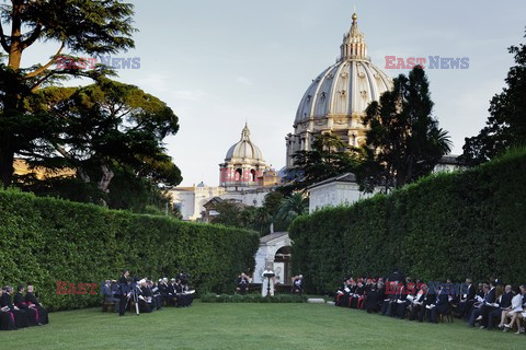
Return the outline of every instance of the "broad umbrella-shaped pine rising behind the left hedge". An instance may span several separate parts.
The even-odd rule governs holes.
[[[27,110],[55,126],[19,151],[35,166],[76,170],[102,192],[110,191],[116,172],[172,186],[182,179],[162,144],[179,130],[178,117],[137,86],[100,78],[84,88],[45,88]]]

